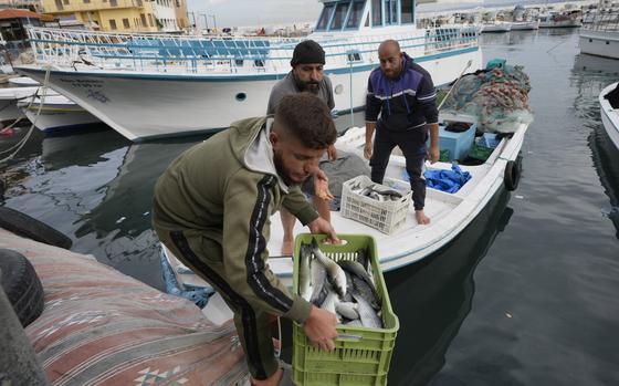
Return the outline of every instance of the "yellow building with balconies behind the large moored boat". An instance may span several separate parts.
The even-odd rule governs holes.
[[[46,14],[108,32],[179,32],[189,28],[186,0],[41,0]]]

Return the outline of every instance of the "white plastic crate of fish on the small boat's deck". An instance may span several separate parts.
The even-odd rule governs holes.
[[[410,189],[395,188],[402,194],[402,198],[396,201],[377,201],[374,198],[353,192],[350,187],[355,185],[359,185],[361,188],[377,185],[386,189],[394,189],[388,185],[375,184],[367,176],[358,176],[347,180],[342,186],[340,212],[343,217],[359,221],[387,234],[394,233],[406,223],[408,208],[412,200]]]

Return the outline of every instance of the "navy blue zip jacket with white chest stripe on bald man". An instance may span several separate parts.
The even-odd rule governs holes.
[[[406,53],[402,71],[390,80],[375,69],[368,80],[366,122],[377,122],[377,128],[407,131],[438,123],[437,92],[432,77]]]

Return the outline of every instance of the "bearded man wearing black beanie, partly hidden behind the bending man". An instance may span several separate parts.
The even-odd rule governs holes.
[[[310,92],[318,96],[329,109],[335,107],[333,86],[331,80],[323,74],[325,65],[325,51],[321,44],[313,40],[304,40],[296,44],[291,60],[292,71],[275,83],[269,97],[266,114],[275,114],[280,101],[291,94]],[[331,160],[337,159],[337,153],[332,145],[327,149]],[[328,192],[326,176],[323,174],[314,178],[314,206],[322,218],[331,221],[329,200],[333,198]],[[280,211],[282,226],[284,228],[284,240],[282,243],[282,255],[292,255],[293,252],[293,228],[296,219],[287,210]]]

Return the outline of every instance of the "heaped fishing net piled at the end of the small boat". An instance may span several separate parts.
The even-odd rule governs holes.
[[[523,66],[494,67],[462,76],[442,109],[478,117],[478,131],[484,133],[514,133],[521,123],[533,122],[529,90]]]

